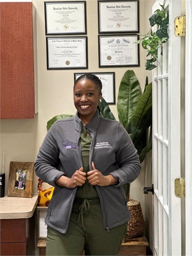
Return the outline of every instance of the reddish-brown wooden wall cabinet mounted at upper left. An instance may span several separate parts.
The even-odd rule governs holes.
[[[34,118],[35,10],[29,2],[0,3],[1,119]]]

